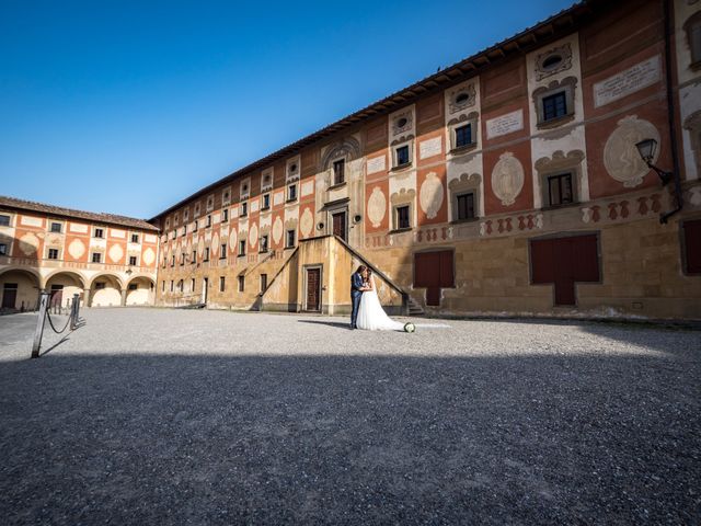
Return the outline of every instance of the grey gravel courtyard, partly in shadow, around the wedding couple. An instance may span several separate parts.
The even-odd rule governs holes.
[[[0,317],[2,524],[699,524],[701,332],[81,315]]]

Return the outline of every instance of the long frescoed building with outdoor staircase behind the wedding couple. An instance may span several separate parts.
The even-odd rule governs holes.
[[[700,72],[701,2],[577,3],[152,218],[154,301],[701,318]]]

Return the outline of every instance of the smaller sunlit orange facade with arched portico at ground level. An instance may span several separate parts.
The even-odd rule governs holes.
[[[41,289],[62,307],[74,294],[90,307],[152,305],[158,250],[146,221],[1,197],[2,308],[34,309]]]

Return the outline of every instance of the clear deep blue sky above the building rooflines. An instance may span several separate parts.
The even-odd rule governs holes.
[[[571,4],[0,0],[0,194],[152,217]]]

